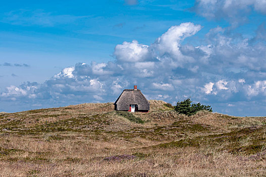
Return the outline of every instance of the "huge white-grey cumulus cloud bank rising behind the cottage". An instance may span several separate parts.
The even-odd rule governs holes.
[[[182,44],[201,28],[193,23],[172,26],[151,45],[125,41],[115,47],[114,61],[77,63],[43,83],[9,86],[0,100],[29,104],[29,109],[33,104],[114,102],[124,89],[136,84],[148,99],[176,103],[177,98],[191,97],[218,112],[236,111],[229,104],[246,110],[263,106],[255,101],[266,97],[265,44],[228,35],[221,27],[209,30],[200,46]]]

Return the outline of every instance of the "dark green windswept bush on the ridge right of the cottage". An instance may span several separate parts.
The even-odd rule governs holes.
[[[177,102],[175,110],[181,114],[186,114],[188,116],[196,114],[196,112],[200,110],[212,112],[212,108],[210,106],[201,105],[200,103],[191,105],[191,103],[192,101],[190,100],[190,98],[182,102]]]

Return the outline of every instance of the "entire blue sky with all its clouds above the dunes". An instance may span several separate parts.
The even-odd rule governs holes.
[[[188,97],[265,116],[266,2],[15,1],[0,7],[0,112]]]

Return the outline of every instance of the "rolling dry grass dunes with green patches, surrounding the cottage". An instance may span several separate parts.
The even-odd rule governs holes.
[[[148,113],[113,103],[0,113],[1,176],[266,176],[266,118],[163,101]]]

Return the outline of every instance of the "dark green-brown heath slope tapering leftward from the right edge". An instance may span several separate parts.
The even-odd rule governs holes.
[[[265,127],[243,128],[226,134],[198,136],[156,145],[162,148],[206,147],[233,154],[256,154],[266,148]],[[248,144],[248,145],[246,145]],[[155,146],[155,147],[156,147]]]

